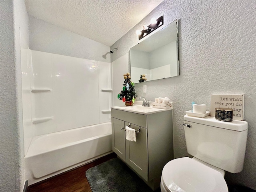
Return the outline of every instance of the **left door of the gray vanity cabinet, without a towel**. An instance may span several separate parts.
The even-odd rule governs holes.
[[[125,162],[124,121],[112,118],[112,150]]]

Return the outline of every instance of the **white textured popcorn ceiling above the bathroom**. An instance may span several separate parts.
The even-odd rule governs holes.
[[[163,0],[26,0],[28,14],[111,46]]]

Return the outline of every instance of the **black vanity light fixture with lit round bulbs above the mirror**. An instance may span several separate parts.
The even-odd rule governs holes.
[[[142,31],[136,30],[136,34],[139,36],[139,40],[150,34],[152,31],[156,30],[158,27],[162,26],[164,24],[164,19],[163,16],[160,16],[158,19],[152,18],[150,22],[151,24],[149,26],[143,26]]]

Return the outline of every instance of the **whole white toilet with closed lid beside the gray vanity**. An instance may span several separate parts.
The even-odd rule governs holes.
[[[248,123],[185,115],[183,125],[193,158],[177,158],[164,166],[161,191],[228,192],[224,174],[243,169]]]

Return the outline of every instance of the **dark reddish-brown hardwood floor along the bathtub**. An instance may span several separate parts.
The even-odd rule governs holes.
[[[30,185],[28,192],[92,192],[85,176],[86,170],[115,157],[116,154],[111,153],[78,168]]]

